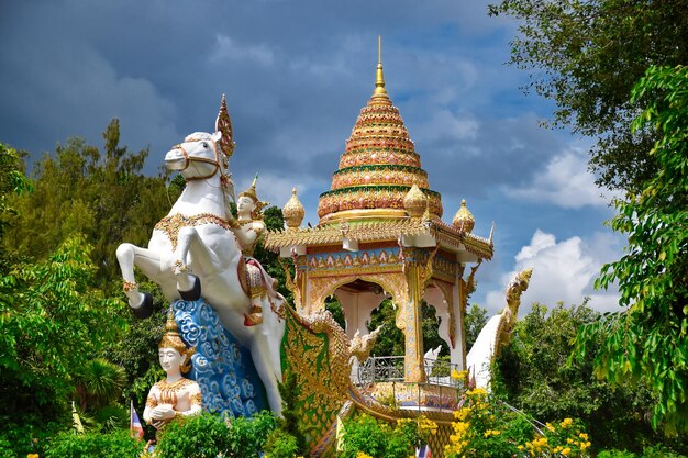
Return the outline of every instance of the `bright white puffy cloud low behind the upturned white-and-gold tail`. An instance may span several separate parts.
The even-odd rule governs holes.
[[[590,298],[589,306],[598,311],[618,309],[617,291],[595,291],[595,278],[604,262],[619,257],[619,239],[606,233],[596,233],[589,242],[578,236],[557,242],[553,234],[536,230],[530,245],[521,248],[514,257],[513,270],[501,278],[506,284],[513,276],[533,268],[528,291],[521,298],[520,315],[531,310],[533,302],[554,306],[580,304]],[[490,291],[486,295],[490,313],[499,313],[504,306],[504,291]]]

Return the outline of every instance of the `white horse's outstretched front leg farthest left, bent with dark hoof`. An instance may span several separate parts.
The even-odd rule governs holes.
[[[120,245],[116,257],[124,279],[124,294],[129,299],[129,306],[136,317],[147,319],[153,314],[153,297],[147,292],[138,291],[134,265],[138,266],[147,277],[157,278],[160,272],[160,258],[157,253],[132,244]]]

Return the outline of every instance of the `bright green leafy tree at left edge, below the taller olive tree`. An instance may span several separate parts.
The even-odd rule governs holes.
[[[89,250],[68,238],[47,259],[0,275],[0,423],[2,435],[19,436],[16,450],[40,435],[29,431],[69,421],[73,376],[121,328],[123,302],[90,287]]]

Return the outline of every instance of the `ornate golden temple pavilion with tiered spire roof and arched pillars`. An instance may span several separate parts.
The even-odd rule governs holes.
[[[296,189],[284,208],[286,230],[269,232],[268,249],[293,262],[289,288],[301,315],[323,310],[335,295],[346,334],[368,333],[366,323],[382,300],[396,306],[403,332],[403,380],[426,381],[421,327],[424,300],[441,317],[440,336],[453,367],[466,367],[464,315],[474,276],[493,255],[491,234],[473,234],[475,220],[462,201],[451,223],[442,196],[387,92],[378,48],[375,90],[360,110],[329,191],[320,194],[319,223],[301,227],[304,209]]]

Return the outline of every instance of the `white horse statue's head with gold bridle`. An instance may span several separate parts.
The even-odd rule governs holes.
[[[167,152],[165,166],[169,170],[179,171],[187,180],[204,179],[225,172],[218,145],[221,137],[220,132],[195,132],[188,135],[182,143]]]

